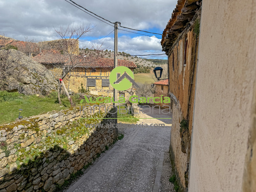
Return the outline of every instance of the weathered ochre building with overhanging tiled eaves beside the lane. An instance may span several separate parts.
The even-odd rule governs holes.
[[[200,14],[201,1],[179,0],[161,41],[168,55],[169,96],[173,101],[169,153],[183,190],[188,187]]]

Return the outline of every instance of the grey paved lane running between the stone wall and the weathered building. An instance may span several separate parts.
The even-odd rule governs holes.
[[[145,108],[143,112],[140,118],[171,117],[171,114],[148,114]],[[137,123],[165,123],[165,127],[129,125],[120,129],[124,138],[99,157],[67,192],[159,191],[164,153],[168,152],[170,142],[171,119],[140,119]]]

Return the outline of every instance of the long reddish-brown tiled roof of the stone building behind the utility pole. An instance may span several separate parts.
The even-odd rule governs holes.
[[[53,64],[53,63],[60,64],[61,63],[61,64],[65,64],[65,66],[69,65],[67,63],[67,61],[69,60],[69,57],[67,55],[60,54],[56,50],[40,53],[37,56],[33,57],[33,59],[42,64]],[[114,59],[109,59],[109,58],[83,57],[83,56],[73,55],[72,61],[75,67],[114,68]],[[124,66],[127,68],[137,68],[137,66],[132,61],[119,60],[119,59],[118,59],[118,66]]]

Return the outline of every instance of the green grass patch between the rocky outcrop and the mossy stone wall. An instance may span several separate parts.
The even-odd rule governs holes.
[[[67,97],[62,98],[61,102],[62,105],[59,105],[56,94],[48,97],[37,97],[36,95],[0,91],[0,124],[15,121],[18,118],[19,109],[23,109],[20,115],[25,118],[53,110],[60,111],[70,108],[70,102]]]

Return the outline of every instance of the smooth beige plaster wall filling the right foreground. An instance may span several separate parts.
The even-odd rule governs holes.
[[[255,191],[255,31],[254,1],[203,1],[189,192]]]

